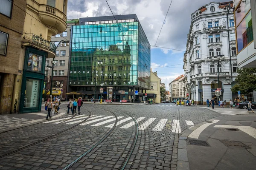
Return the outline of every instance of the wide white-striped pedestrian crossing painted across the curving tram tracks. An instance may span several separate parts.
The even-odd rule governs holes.
[[[84,121],[86,118],[87,118],[87,115],[78,115],[74,117],[70,116],[68,118],[50,120],[43,123],[46,123],[46,124],[64,123],[64,125],[73,125],[73,124]],[[116,124],[116,127],[120,129],[128,129],[135,125],[135,122],[132,119],[132,117],[118,116],[117,119],[118,119],[118,122]],[[90,125],[92,127],[113,127],[115,125],[115,123],[113,123],[115,120],[116,120],[115,116],[93,115],[92,117],[87,119],[86,122],[80,124],[79,126]],[[151,118],[139,117],[136,119],[136,122],[139,123],[142,120],[143,120],[143,123],[139,125],[139,130],[145,130],[148,127],[150,127],[152,131],[162,131],[164,129],[171,129],[173,133],[181,132],[180,120],[159,119],[159,118],[153,118],[153,117]],[[183,123],[186,125],[186,127],[194,126],[194,123],[191,120],[186,120]]]

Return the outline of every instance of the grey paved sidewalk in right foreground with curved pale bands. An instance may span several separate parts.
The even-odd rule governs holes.
[[[256,115],[220,116],[184,130],[177,156],[177,170],[254,170]]]

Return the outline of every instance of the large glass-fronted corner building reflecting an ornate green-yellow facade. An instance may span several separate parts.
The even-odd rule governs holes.
[[[96,90],[95,99],[107,99],[106,88],[113,87],[113,99],[144,101],[150,89],[150,44],[136,14],[79,21],[71,34],[68,91],[90,99]]]

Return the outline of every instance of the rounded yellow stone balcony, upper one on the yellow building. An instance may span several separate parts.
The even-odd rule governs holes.
[[[52,32],[52,35],[59,34],[67,28],[67,16],[57,8],[40,4],[38,16],[50,28],[49,31]]]

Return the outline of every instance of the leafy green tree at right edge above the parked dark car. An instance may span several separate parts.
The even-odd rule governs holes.
[[[240,91],[244,95],[256,91],[256,68],[239,68],[236,85],[230,89],[233,93]]]

